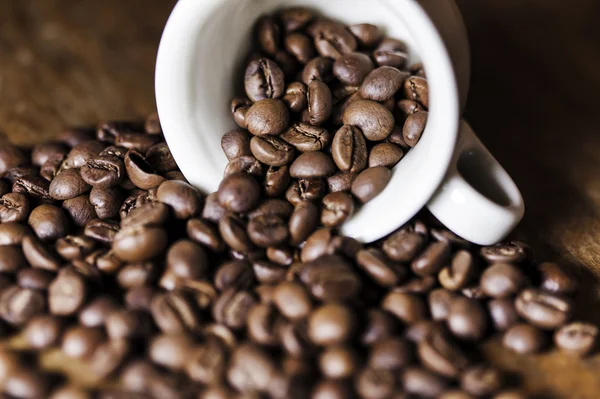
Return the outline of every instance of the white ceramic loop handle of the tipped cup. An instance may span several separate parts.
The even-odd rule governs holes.
[[[427,207],[454,233],[479,245],[502,240],[525,211],[517,185],[465,121],[446,177]]]

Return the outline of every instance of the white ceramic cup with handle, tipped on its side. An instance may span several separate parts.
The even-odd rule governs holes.
[[[188,181],[205,192],[217,190],[227,163],[220,139],[235,127],[229,104],[253,25],[260,15],[292,5],[383,28],[408,44],[410,61],[423,62],[429,83],[429,118],[420,142],[394,168],[386,189],[341,232],[371,242],[427,206],[477,244],[510,233],[523,216],[521,194],[460,119],[470,59],[453,0],[179,0],[161,39],[155,83],[165,138]]]

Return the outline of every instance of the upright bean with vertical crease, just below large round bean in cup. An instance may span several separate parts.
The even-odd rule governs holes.
[[[361,172],[367,166],[367,144],[361,130],[356,126],[342,126],[331,143],[331,155],[340,170]]]

